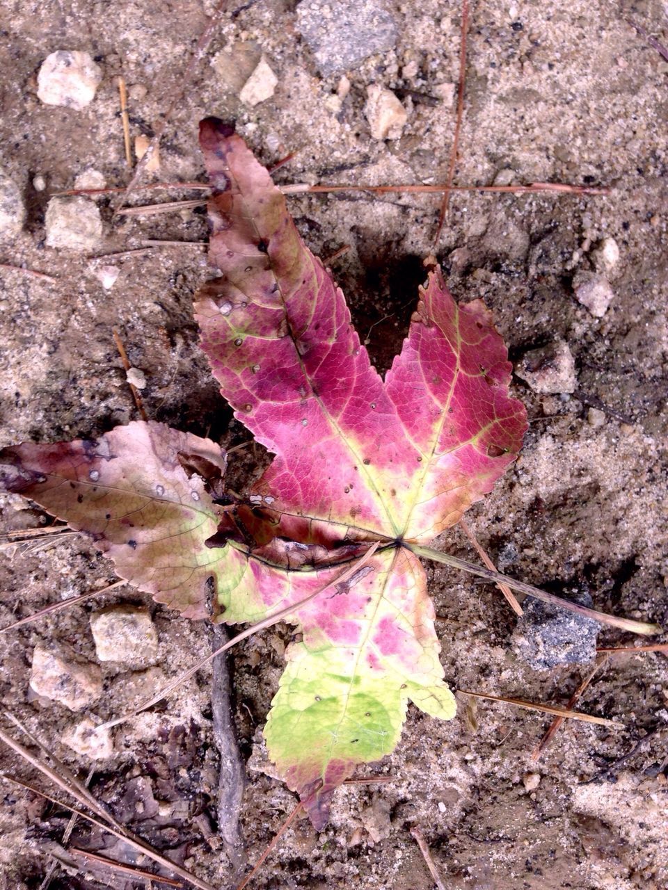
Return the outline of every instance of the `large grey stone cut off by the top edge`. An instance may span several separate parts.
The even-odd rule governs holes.
[[[396,22],[379,0],[302,0],[297,30],[322,77],[356,68],[374,53],[395,46]]]

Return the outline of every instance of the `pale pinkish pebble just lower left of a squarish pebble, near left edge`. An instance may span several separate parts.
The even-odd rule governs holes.
[[[37,695],[80,711],[102,695],[102,674],[98,665],[78,660],[76,652],[69,647],[37,643],[30,686]]]

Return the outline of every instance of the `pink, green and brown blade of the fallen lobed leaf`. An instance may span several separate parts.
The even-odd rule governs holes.
[[[89,532],[122,578],[188,617],[255,622],[294,605],[284,618],[301,637],[265,737],[320,829],[354,767],[395,748],[409,700],[454,715],[412,548],[424,554],[492,489],[517,456],[525,409],[509,398],[490,313],[458,306],[437,267],[383,381],[265,168],[216,119],[200,142],[222,273],[197,298],[202,348],[272,465],[234,504],[214,442],[133,423],[97,441],[5,449],[0,481]]]

